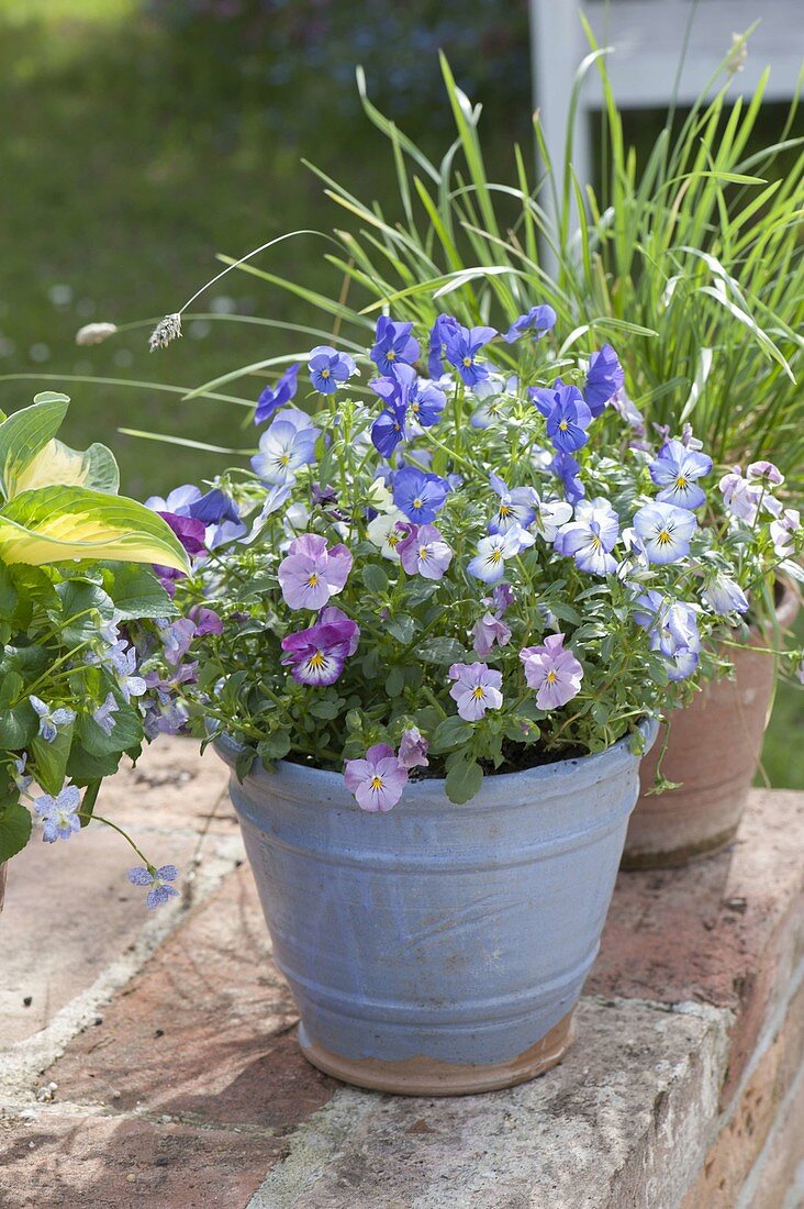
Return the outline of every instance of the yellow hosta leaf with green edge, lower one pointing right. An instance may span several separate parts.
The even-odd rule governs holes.
[[[33,566],[114,559],[187,571],[184,549],[161,516],[134,499],[85,487],[25,491],[6,504],[0,559]]]

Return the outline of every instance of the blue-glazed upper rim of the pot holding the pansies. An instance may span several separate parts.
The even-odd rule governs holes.
[[[659,731],[656,718],[644,717],[635,730],[641,730],[644,736],[644,750],[642,756],[650,750]],[[602,752],[592,752],[589,756],[578,756],[571,759],[559,759],[551,764],[539,764],[536,768],[520,769],[517,773],[501,773],[484,777],[480,793],[469,802],[457,804],[450,802],[445,791],[443,777],[427,777],[420,781],[410,781],[405,787],[403,800],[394,808],[429,805],[434,798],[440,802],[440,809],[452,810],[487,810],[490,805],[510,806],[532,800],[533,794],[539,798],[557,797],[566,794],[568,789],[583,792],[590,786],[615,776],[630,763],[638,764],[641,756],[635,756],[630,750],[630,741],[634,731],[618,739],[615,744]],[[214,740],[213,747],[225,764],[233,770],[241,745],[230,735],[222,734]],[[572,779],[573,785],[568,785]],[[334,773],[329,769],[313,768],[310,764],[296,764],[293,760],[280,759],[274,764],[274,771],[268,773],[258,762],[244,781],[265,782],[272,794],[278,794],[289,800],[310,800],[314,796],[322,804],[337,805],[342,809],[353,809],[360,814],[361,810],[354,800],[352,793],[343,785],[342,773]]]

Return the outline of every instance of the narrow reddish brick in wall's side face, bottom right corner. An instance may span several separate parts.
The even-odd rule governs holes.
[[[804,987],[711,1146],[682,1209],[734,1209],[804,1062]],[[800,1118],[799,1118],[800,1120]],[[804,1152],[804,1143],[803,1143]]]

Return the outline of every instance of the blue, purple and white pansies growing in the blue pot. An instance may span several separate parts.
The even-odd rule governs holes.
[[[241,776],[288,758],[370,812],[421,776],[465,802],[485,775],[638,750],[745,640],[802,549],[781,475],[713,465],[688,428],[652,441],[615,349],[574,357],[555,326],[538,301],[504,332],[383,316],[363,354],[311,351],[303,399],[293,368],[262,391],[250,469],[210,486],[239,528],[170,580],[219,619],[178,695]]]

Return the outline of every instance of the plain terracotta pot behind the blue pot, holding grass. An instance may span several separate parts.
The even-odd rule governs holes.
[[[788,629],[799,597],[783,585],[779,624]],[[759,630],[751,640],[767,646]],[[771,640],[773,641],[773,640]],[[758,650],[729,648],[734,678],[705,684],[693,704],[675,710],[661,771],[683,782],[665,793],[642,793],[629,823],[624,869],[656,869],[687,864],[719,851],[740,826],[757,771],[770,717],[774,658]],[[665,727],[640,769],[647,791],[653,785]]]

